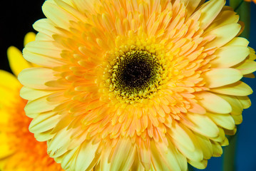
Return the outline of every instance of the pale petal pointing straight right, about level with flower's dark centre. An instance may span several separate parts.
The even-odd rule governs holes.
[[[202,76],[206,81],[205,86],[217,88],[239,81],[242,78],[242,73],[234,68],[213,68]]]

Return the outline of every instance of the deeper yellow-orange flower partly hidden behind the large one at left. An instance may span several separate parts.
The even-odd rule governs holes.
[[[24,44],[34,39],[34,33],[27,33]],[[14,46],[8,49],[7,55],[11,70],[16,76],[24,68],[34,66],[26,62],[21,51]],[[62,170],[61,165],[48,157],[46,142],[36,141],[29,132],[32,119],[25,115],[27,100],[19,96],[22,86],[16,76],[0,71],[0,170]]]

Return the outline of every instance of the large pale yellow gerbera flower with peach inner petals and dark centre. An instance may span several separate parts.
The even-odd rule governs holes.
[[[48,0],[21,71],[29,130],[65,170],[187,170],[222,154],[256,70],[223,0]],[[248,75],[249,74],[249,75]]]

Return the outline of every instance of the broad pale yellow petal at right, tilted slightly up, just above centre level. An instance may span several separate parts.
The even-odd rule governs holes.
[[[214,53],[216,58],[211,61],[212,68],[228,68],[245,60],[250,50],[246,46],[224,46]]]

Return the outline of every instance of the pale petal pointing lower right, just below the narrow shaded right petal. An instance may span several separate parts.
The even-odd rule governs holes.
[[[232,108],[230,103],[227,103],[226,100],[220,98],[219,95],[214,93],[202,92],[196,94],[198,98],[198,103],[202,105],[206,110],[213,113],[230,113]]]

